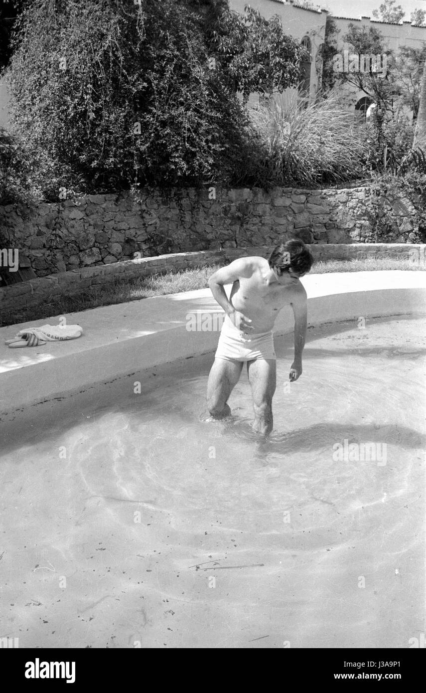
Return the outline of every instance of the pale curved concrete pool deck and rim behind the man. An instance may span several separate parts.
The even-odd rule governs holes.
[[[359,317],[426,313],[425,272],[311,274],[303,277],[302,283],[308,293],[309,326]],[[197,313],[223,314],[210,290],[65,315],[66,324],[82,326],[82,337],[47,342],[42,347],[9,349],[4,340],[25,327],[58,324],[57,316],[0,328],[0,412],[14,412],[94,383],[142,374],[179,358],[213,352],[217,328],[188,329],[188,314]],[[274,332],[281,335],[292,329],[292,312],[285,308]]]

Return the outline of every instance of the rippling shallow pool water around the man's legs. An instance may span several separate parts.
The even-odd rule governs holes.
[[[416,316],[309,330],[290,391],[291,335],[276,339],[267,440],[245,371],[231,418],[206,422],[211,354],[141,373],[141,394],[132,376],[2,421],[0,638],[409,647],[424,629],[425,332]]]

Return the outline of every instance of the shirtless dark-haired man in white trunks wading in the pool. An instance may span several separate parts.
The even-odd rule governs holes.
[[[278,245],[269,260],[240,258],[212,274],[208,286],[227,314],[215,361],[208,376],[208,410],[215,419],[231,413],[227,401],[238,383],[243,363],[251,385],[254,430],[272,431],[272,397],[276,387],[276,356],[272,328],[283,306],[294,313],[294,361],[290,381],[302,373],[307,310],[306,292],[299,277],[312,267],[312,255],[301,241]],[[224,285],[233,282],[229,299]]]

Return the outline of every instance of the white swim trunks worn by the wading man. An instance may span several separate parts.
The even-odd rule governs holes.
[[[272,331],[256,335],[243,334],[227,315],[220,331],[215,358],[224,358],[227,361],[276,359]]]

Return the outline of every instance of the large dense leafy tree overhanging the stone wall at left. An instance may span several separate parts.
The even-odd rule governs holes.
[[[224,0],[28,0],[13,47],[13,130],[53,200],[252,184],[262,156],[236,90],[285,89],[301,55],[277,20]]]

